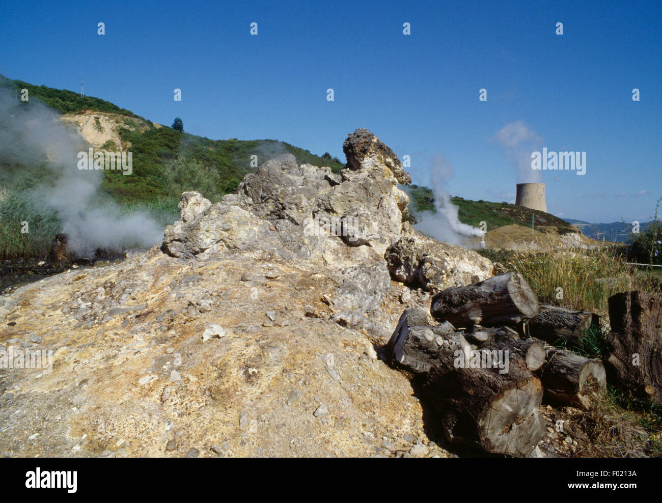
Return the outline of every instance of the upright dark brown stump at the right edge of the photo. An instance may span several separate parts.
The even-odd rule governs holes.
[[[662,404],[662,295],[617,293],[608,300],[610,383]]]

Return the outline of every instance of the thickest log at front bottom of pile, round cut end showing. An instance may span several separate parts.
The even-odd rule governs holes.
[[[527,456],[545,434],[540,414],[540,379],[512,362],[508,373],[498,369],[432,367],[424,400],[440,414],[451,442],[477,445],[489,453]]]

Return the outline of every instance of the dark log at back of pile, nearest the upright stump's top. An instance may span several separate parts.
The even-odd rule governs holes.
[[[582,340],[590,328],[600,327],[600,317],[588,311],[571,311],[556,306],[540,306],[538,314],[528,322],[529,334],[555,344],[559,339]]]

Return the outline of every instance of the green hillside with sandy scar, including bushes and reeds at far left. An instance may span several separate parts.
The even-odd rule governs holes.
[[[278,140],[211,140],[187,132],[179,132],[168,126],[154,124],[132,111],[96,97],[83,96],[66,89],[53,89],[44,85],[32,85],[24,81],[12,81],[0,75],[0,86],[9,89],[11,95],[20,96],[21,89],[28,89],[30,100],[42,101],[62,114],[64,124],[89,122],[97,129],[96,136],[104,135],[107,141],[95,144],[102,150],[130,150],[133,172],[130,176],[121,171],[103,171],[101,192],[120,203],[124,210],[143,208],[154,214],[164,225],[173,220],[177,212],[179,195],[185,190],[199,190],[211,201],[217,201],[226,193],[236,191],[244,175],[255,171],[251,156],[258,156],[258,165],[278,154],[290,153],[298,163],[328,166],[338,173],[343,163],[330,154],[316,156],[309,150]],[[186,126],[185,117],[183,117]],[[0,128],[3,118],[0,117]],[[93,131],[94,132],[94,131]],[[83,136],[85,136],[83,134]],[[111,140],[110,138],[113,138]],[[91,142],[88,138],[88,141]],[[117,144],[120,143],[120,145]],[[2,146],[0,146],[2,148]],[[13,149],[17,150],[17,149]],[[44,172],[46,160],[11,158],[11,165],[2,163],[5,173],[11,175],[0,185],[0,259],[43,253],[48,250],[52,236],[60,232],[60,222],[52,214],[34,206],[26,196],[26,189],[33,188],[35,179],[44,179],[30,173]],[[179,170],[175,173],[176,170]],[[21,177],[25,173],[26,179]],[[30,234],[17,236],[20,222],[30,215]]]

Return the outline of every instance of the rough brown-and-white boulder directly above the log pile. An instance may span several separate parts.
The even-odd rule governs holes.
[[[404,224],[402,238],[385,259],[391,275],[411,287],[444,290],[478,283],[493,275],[492,262],[475,251],[438,242]]]

